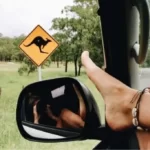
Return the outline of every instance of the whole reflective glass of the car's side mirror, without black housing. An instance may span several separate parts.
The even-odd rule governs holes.
[[[22,98],[22,126],[30,136],[62,139],[81,134],[86,105],[75,84],[35,83],[26,88]]]

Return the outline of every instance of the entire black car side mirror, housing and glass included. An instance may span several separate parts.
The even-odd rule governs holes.
[[[18,99],[16,120],[21,135],[33,141],[99,139],[97,131],[101,128],[91,92],[68,77],[25,87]],[[100,136],[105,137],[106,132]]]

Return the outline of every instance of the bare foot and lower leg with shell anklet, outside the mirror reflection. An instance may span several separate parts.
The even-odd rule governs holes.
[[[108,126],[114,131],[123,131],[139,125],[141,128],[137,128],[136,135],[140,149],[150,149],[150,88],[141,92],[128,87],[96,66],[90,59],[88,51],[82,53],[81,61],[87,76],[104,99]],[[134,108],[138,102],[139,114],[137,116]],[[135,122],[135,115],[138,124]]]

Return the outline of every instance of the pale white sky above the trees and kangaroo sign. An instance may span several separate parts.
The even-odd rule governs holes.
[[[49,34],[51,21],[61,16],[73,0],[0,0],[0,33],[4,36],[29,34],[41,25]]]

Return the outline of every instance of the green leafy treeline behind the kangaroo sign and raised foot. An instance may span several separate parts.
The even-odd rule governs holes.
[[[150,1],[150,0],[149,0]],[[102,37],[100,19],[97,15],[97,0],[74,0],[72,6],[66,6],[62,10],[64,17],[54,18],[50,30],[59,43],[59,47],[48,58],[44,65],[49,66],[51,61],[64,64],[64,71],[68,71],[68,63],[74,63],[74,75],[80,75],[82,51],[90,51],[93,61],[102,67],[104,64],[102,52]],[[0,33],[0,61],[17,61],[22,65],[18,72],[20,74],[36,71],[36,66],[19,49],[25,35],[18,37],[5,37]],[[143,67],[150,67],[150,52]],[[43,66],[42,66],[43,67]]]

